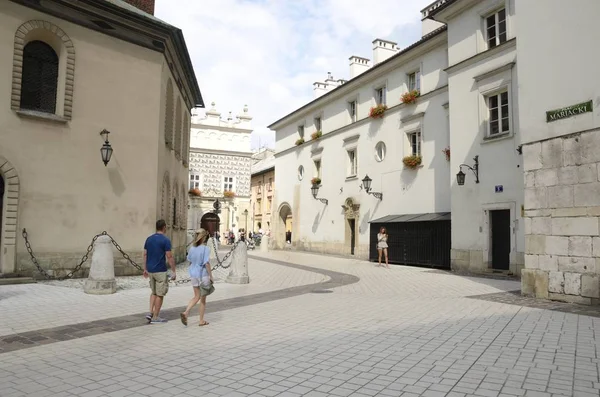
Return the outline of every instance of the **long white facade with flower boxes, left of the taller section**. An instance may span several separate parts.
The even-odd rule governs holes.
[[[382,49],[374,42],[376,67],[270,126],[276,131],[276,246],[285,244],[284,225],[290,212],[289,231],[295,247],[351,254],[354,246],[354,254],[366,258],[371,220],[450,210],[450,166],[442,153],[449,145],[443,73],[446,43],[445,29],[441,29],[385,62],[385,52],[381,55]],[[350,58],[352,74],[356,58]],[[411,83],[420,84],[421,97],[415,104],[403,104],[400,98]],[[383,119],[372,119],[369,111],[381,92],[388,109]],[[318,130],[323,135],[311,141],[311,134]],[[402,158],[412,153],[411,134],[415,133],[420,136],[422,164],[413,170],[403,165]],[[306,143],[296,146],[302,135]],[[361,180],[367,174],[373,179],[372,190],[383,193],[383,200],[362,189]],[[327,199],[327,204],[311,194],[311,178],[316,176],[322,179],[318,198]]]

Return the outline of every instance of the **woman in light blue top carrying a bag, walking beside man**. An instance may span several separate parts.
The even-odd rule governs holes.
[[[208,241],[208,232],[204,229],[196,231],[194,242],[190,248],[187,260],[190,261],[190,278],[194,288],[194,297],[190,300],[185,312],[181,313],[181,322],[187,325],[187,318],[190,310],[200,301],[200,326],[208,325],[204,321],[204,312],[206,311],[206,297],[213,293],[212,270],[210,268],[210,248],[206,246]]]

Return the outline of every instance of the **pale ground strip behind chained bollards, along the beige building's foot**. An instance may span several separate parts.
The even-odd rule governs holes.
[[[222,258],[227,251],[219,251],[219,257]],[[228,266],[231,262],[231,259],[228,259],[225,262],[225,266]],[[183,262],[177,265],[177,280],[185,280],[189,279],[189,263]],[[213,271],[213,276],[215,278],[215,284],[225,282],[225,278],[229,274],[229,269],[219,268]],[[136,288],[148,288],[148,280],[143,276],[123,276],[123,277],[115,277],[117,280],[117,291],[127,290],[127,289],[136,289]],[[72,278],[67,280],[41,280],[38,281],[39,284],[52,285],[56,287],[67,287],[67,288],[79,288],[83,289],[83,284],[85,283],[85,278]],[[189,283],[184,284],[176,284],[171,282],[170,288],[172,287],[180,287],[180,286],[188,286]]]

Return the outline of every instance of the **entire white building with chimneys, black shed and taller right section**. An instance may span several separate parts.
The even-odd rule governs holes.
[[[519,273],[514,0],[441,0],[422,17],[419,42],[398,49],[375,40],[373,65],[351,57],[349,81],[329,75],[314,84],[314,101],[270,126],[277,142],[274,244],[283,245],[283,219],[291,213],[300,249],[373,259],[383,225],[394,262]],[[402,103],[413,89],[420,91],[416,103]],[[382,101],[383,120],[370,118]],[[316,130],[323,135],[310,141]],[[307,143],[296,142],[303,136]],[[412,153],[422,156],[417,169],[403,164]],[[382,200],[363,189],[367,174]],[[327,204],[311,195],[313,176]]]

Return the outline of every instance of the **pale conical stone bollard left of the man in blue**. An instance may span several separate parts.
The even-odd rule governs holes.
[[[90,274],[83,285],[86,294],[108,295],[117,292],[112,247],[110,237],[100,236],[96,239]]]

